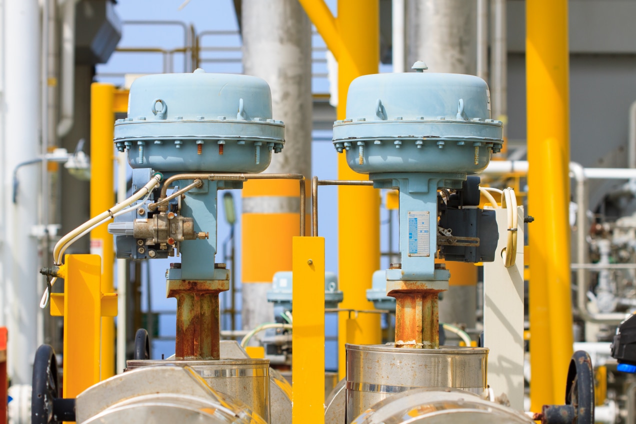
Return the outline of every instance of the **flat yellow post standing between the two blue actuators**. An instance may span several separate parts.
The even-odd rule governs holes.
[[[324,238],[293,240],[292,424],[324,423]]]

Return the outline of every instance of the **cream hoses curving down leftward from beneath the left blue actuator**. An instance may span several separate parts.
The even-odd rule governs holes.
[[[71,244],[73,244],[74,242],[79,240],[79,238],[85,236],[87,233],[97,228],[101,224],[104,224],[104,222],[107,222],[113,219],[114,217],[124,214],[125,212],[128,212],[129,210],[133,209],[133,207],[130,207],[130,205],[137,202],[137,200],[141,198],[144,198],[144,200],[146,200],[152,193],[153,189],[155,189],[156,186],[159,185],[161,180],[162,180],[162,175],[155,174],[145,186],[143,186],[141,189],[139,189],[139,191],[137,191],[137,193],[130,196],[123,202],[117,203],[111,209],[106,210],[105,212],[102,212],[101,214],[97,215],[93,219],[89,219],[88,221],[81,224],[78,228],[74,229],[73,231],[70,231],[67,235],[60,238],[59,242],[55,244],[55,248],[53,249],[53,263],[55,263],[56,265],[61,265],[62,259],[64,257],[64,252],[66,251],[66,249],[68,249],[68,247]],[[57,277],[52,278],[51,286],[55,283],[56,280],[57,280]],[[48,305],[49,299],[50,299],[50,289],[49,287],[47,287],[40,301],[40,308],[42,309],[46,308],[46,306]]]

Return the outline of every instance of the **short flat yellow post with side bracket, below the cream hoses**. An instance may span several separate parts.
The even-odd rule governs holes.
[[[102,317],[117,315],[117,295],[102,294],[101,259],[66,255],[58,277],[64,293],[51,294],[51,315],[64,316],[64,397],[76,397],[100,381]]]

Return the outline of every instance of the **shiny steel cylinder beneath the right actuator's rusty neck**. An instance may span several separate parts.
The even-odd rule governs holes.
[[[487,348],[347,345],[346,422],[395,393],[420,387],[486,390]]]

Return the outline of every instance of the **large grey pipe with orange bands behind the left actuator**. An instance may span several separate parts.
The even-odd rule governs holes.
[[[285,123],[282,153],[267,172],[311,175],[311,24],[298,0],[243,0],[244,73],[272,89],[273,117]],[[249,181],[242,191],[242,324],[273,320],[266,301],[276,271],[291,270],[292,236],[298,236],[298,181]]]

